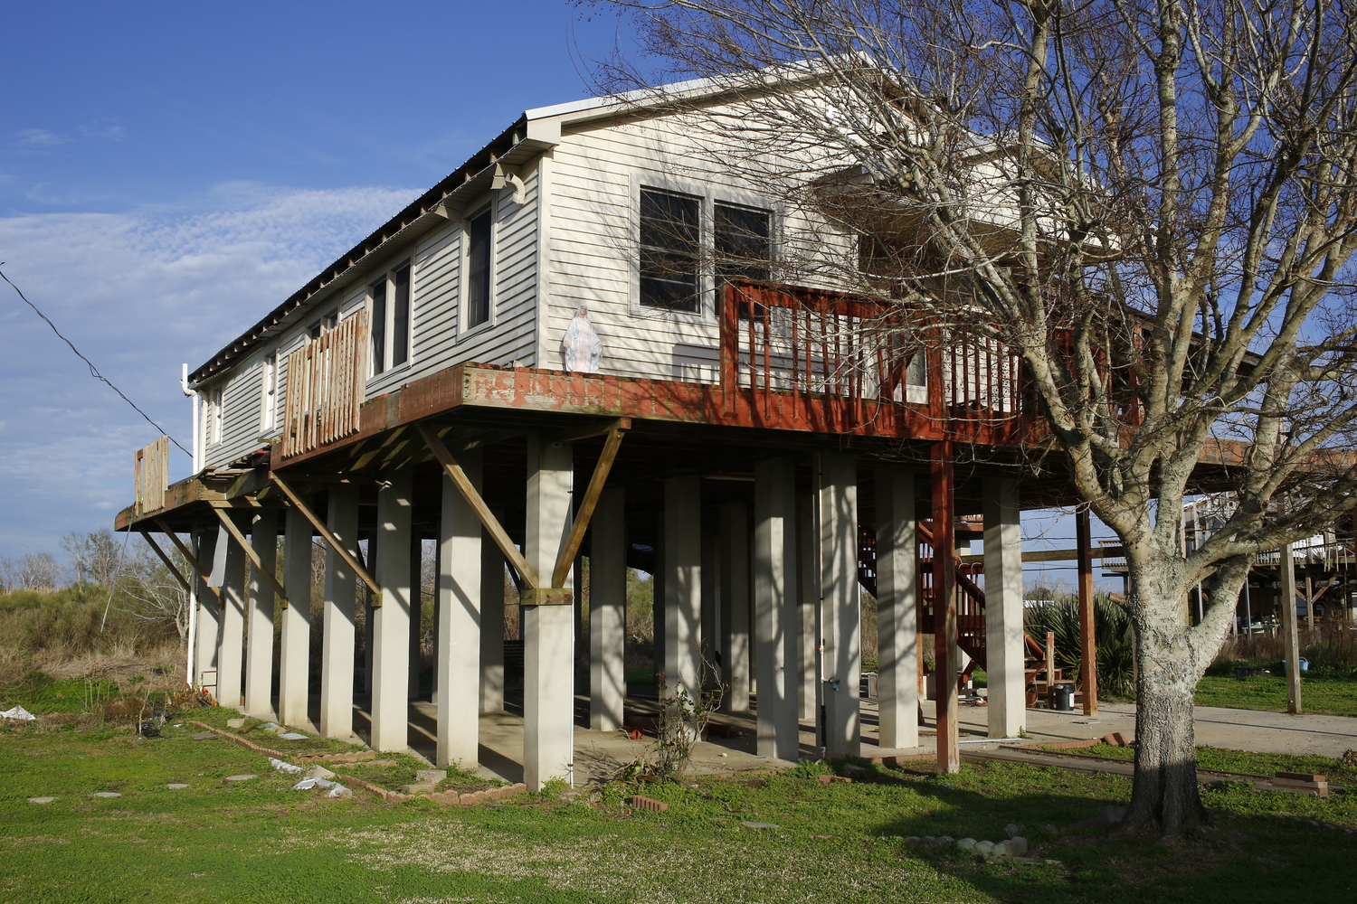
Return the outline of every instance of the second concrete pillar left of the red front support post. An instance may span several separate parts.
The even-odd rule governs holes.
[[[862,590],[858,584],[858,457],[818,453],[820,623],[828,754],[862,752]]]

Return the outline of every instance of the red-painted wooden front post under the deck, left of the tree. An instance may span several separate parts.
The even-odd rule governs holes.
[[[953,443],[932,447],[934,697],[938,702],[938,771],[959,773],[957,743],[957,527]]]

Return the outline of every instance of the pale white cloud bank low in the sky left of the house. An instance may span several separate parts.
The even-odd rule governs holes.
[[[178,207],[0,218],[0,260],[57,327],[189,445],[179,365],[202,363],[415,195],[218,186]],[[155,430],[0,283],[0,556],[58,552],[132,500]],[[176,455],[172,477],[189,461]]]

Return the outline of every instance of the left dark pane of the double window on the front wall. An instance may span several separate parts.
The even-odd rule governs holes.
[[[641,190],[641,304],[697,310],[702,199]]]

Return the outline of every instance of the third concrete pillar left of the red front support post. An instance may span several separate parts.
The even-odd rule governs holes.
[[[754,465],[754,668],[759,674],[759,756],[792,760],[797,720],[797,476],[787,455]]]

